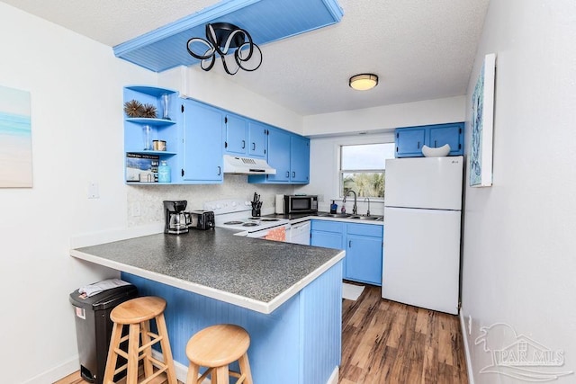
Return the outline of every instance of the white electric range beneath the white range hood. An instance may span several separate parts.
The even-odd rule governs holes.
[[[284,226],[289,238],[290,220],[279,218],[252,217],[252,204],[241,199],[207,201],[204,210],[214,212],[214,225],[217,228],[238,230],[237,236],[266,237],[272,228]]]

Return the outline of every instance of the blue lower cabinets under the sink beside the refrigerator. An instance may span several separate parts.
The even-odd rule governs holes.
[[[311,246],[344,249],[344,278],[382,285],[383,227],[311,220]]]

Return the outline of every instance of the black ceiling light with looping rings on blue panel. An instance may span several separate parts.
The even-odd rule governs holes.
[[[209,71],[214,67],[216,54],[222,59],[222,66],[229,75],[236,75],[239,69],[251,72],[262,64],[262,51],[252,41],[250,34],[228,22],[206,24],[206,40],[192,38],[186,43],[188,53],[201,60],[200,67]],[[236,68],[230,70],[225,56],[234,52]]]

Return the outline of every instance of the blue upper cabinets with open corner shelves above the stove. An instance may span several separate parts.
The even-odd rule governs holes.
[[[222,183],[224,153],[265,158],[276,169],[276,174],[248,176],[249,183],[310,182],[309,138],[179,98],[165,88],[127,86],[127,102],[156,110],[156,116],[124,117],[127,183]],[[166,147],[151,147],[155,141]],[[169,171],[169,182],[158,183],[160,165]]]

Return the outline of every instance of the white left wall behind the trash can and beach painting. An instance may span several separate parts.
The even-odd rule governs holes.
[[[46,383],[78,369],[68,294],[114,274],[68,248],[81,233],[126,227],[122,86],[157,76],[4,3],[0,47],[0,85],[31,93],[33,158],[33,188],[0,189],[2,381]],[[89,181],[100,199],[87,199]]]

